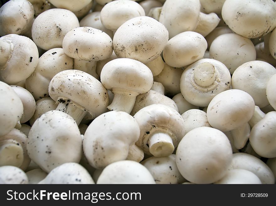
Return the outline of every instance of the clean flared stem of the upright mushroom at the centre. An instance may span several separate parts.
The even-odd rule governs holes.
[[[138,92],[122,88],[113,88],[114,98],[112,103],[107,107],[112,111],[123,111],[128,114],[132,111]]]

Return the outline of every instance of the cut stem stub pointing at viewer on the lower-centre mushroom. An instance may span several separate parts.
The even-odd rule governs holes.
[[[155,157],[166,157],[173,153],[173,140],[162,132],[154,133],[148,140],[150,153]]]

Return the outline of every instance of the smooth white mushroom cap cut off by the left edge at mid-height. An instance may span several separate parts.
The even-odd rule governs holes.
[[[23,115],[23,103],[13,88],[0,81],[0,137],[8,134]]]

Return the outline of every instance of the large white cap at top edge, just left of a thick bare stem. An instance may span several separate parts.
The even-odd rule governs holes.
[[[169,31],[169,38],[184,31],[193,31],[199,21],[199,0],[167,0],[163,4],[160,23]]]

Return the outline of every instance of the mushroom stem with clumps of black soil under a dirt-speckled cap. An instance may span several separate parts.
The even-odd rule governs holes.
[[[85,108],[68,98],[59,97],[58,102],[59,104],[56,110],[69,114],[73,119],[75,119],[77,125],[81,123],[82,119],[87,114]]]

